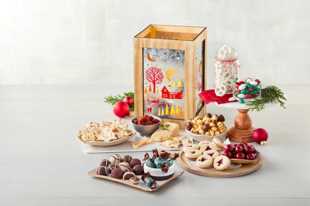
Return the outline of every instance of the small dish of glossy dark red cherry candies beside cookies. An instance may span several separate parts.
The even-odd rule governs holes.
[[[228,157],[232,163],[250,164],[259,159],[260,153],[252,145],[243,142],[225,145],[221,155]]]

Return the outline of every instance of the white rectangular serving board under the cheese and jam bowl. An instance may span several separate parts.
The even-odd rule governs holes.
[[[193,143],[192,137],[185,132],[185,130],[180,130],[180,135],[183,135]],[[131,143],[138,141],[141,139],[142,136],[137,133],[134,137],[130,138],[129,140],[119,144],[119,145],[113,145],[113,146],[94,146],[94,145],[86,145],[84,144],[84,152],[85,153],[108,153],[108,152],[148,152],[152,151],[152,149],[168,149],[168,150],[181,150],[183,149],[183,145],[180,145],[180,148],[167,148],[165,146],[162,146],[163,142],[153,142],[151,144],[145,144],[137,149],[133,148]],[[148,137],[150,138],[150,137]],[[183,142],[183,144],[188,144],[186,142]]]

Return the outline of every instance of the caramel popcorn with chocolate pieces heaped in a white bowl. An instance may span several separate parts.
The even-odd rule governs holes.
[[[190,131],[195,134],[204,134],[208,136],[219,135],[226,131],[225,123],[224,121],[221,121],[223,119],[224,119],[223,115],[211,116],[209,114],[209,115],[204,115],[202,118],[199,116],[196,116],[194,119],[187,120],[187,122],[189,122],[193,126],[191,128],[191,125],[189,125],[188,130],[190,129]],[[209,125],[209,126],[204,127],[204,125]]]

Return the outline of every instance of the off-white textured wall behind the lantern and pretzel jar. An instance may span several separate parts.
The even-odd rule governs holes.
[[[239,52],[242,76],[309,82],[308,0],[1,0],[1,84],[133,82],[133,36],[149,24],[208,27]]]

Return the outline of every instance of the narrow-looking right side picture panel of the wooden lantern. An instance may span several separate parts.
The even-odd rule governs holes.
[[[196,48],[196,63],[195,63],[195,71],[196,71],[196,94],[195,94],[195,104],[196,104],[196,115],[200,112],[202,107],[204,106],[204,102],[200,97],[198,96],[199,93],[201,93],[204,90],[204,62],[203,62],[203,55],[204,55],[204,48],[202,42],[197,48]]]

